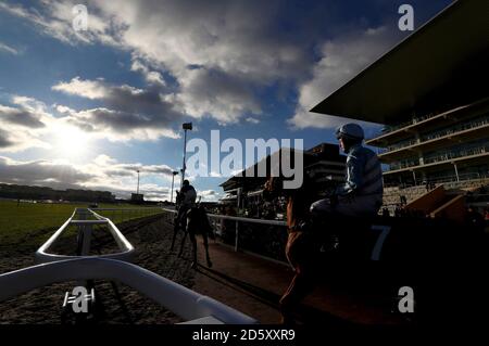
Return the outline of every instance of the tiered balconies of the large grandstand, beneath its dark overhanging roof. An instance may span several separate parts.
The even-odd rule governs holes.
[[[387,185],[489,178],[489,100],[386,127],[366,144],[389,165]]]

